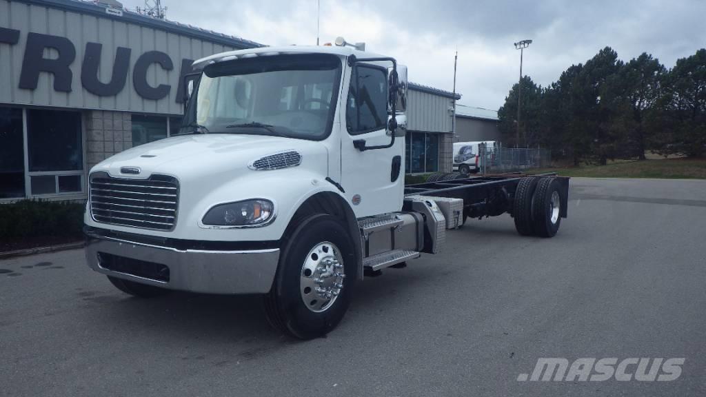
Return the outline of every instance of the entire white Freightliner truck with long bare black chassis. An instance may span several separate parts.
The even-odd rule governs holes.
[[[262,294],[273,326],[315,338],[366,275],[438,253],[447,226],[510,213],[521,235],[552,237],[566,218],[561,177],[405,186],[407,69],[395,59],[266,47],[194,67],[178,136],[90,170],[88,265],[128,294]]]

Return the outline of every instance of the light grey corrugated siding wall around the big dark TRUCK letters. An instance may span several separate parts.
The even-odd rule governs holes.
[[[212,42],[193,39],[184,35],[167,33],[164,30],[131,25],[119,20],[97,18],[56,8],[28,5],[16,1],[0,0],[0,26],[20,30],[16,45],[0,44],[0,103],[17,105],[41,105],[84,109],[120,110],[129,112],[181,114],[177,103],[181,59],[199,59],[233,48]],[[18,88],[25,44],[29,32],[66,37],[76,48],[76,59],[71,64],[71,93],[54,91],[54,77],[40,73],[36,90]],[[87,42],[102,44],[98,77],[103,83],[112,78],[113,65],[118,47],[131,49],[130,67],[123,89],[113,97],[98,97],[84,90],[81,85],[81,67]],[[145,100],[133,87],[133,66],[145,52],[166,52],[172,59],[173,69],[162,70],[158,64],[148,69],[148,83],[156,86],[169,84],[169,96],[162,100]],[[48,50],[45,57],[56,56]]]

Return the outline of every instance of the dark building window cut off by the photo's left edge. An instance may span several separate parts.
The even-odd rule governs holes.
[[[25,196],[22,109],[0,107],[0,198]]]

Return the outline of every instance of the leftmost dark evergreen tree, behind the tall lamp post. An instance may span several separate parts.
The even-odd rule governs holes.
[[[517,132],[517,89],[513,85],[505,97],[505,105],[498,109],[498,128],[503,142],[508,146],[534,146],[539,143],[539,109],[542,103],[542,87],[532,81],[530,76],[522,77],[522,110],[520,114],[520,142],[516,141]]]

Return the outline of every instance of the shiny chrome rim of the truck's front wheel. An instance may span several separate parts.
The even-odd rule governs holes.
[[[301,266],[301,300],[312,312],[325,312],[340,295],[345,277],[340,249],[331,242],[316,244]]]

